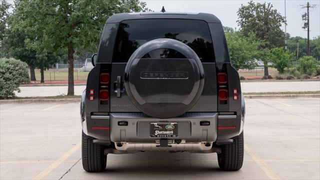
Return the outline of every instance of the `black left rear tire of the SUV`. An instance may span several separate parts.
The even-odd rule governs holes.
[[[82,131],[82,166],[87,172],[100,172],[105,169],[106,155],[104,146],[93,143],[93,139]]]

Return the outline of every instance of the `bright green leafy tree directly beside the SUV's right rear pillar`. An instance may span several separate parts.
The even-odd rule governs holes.
[[[225,32],[229,55],[235,69],[253,69],[258,58],[260,41],[253,34],[245,37],[239,32]]]

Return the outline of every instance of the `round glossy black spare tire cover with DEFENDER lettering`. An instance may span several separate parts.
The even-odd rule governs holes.
[[[159,48],[176,50],[186,58],[142,58]],[[132,103],[157,118],[176,117],[189,110],[202,93],[203,84],[199,57],[183,42],[169,38],[141,45],[124,70],[124,87]]]

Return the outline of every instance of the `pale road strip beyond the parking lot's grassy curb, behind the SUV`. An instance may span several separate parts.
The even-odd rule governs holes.
[[[55,96],[67,94],[67,86],[21,86],[19,97]],[[85,85],[74,86],[74,94],[81,95]],[[316,91],[320,90],[320,81],[269,81],[241,82],[243,92],[283,92],[283,91]]]

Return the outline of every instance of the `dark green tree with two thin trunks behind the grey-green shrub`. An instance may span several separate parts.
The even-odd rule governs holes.
[[[19,6],[19,1],[15,2],[15,7]],[[7,20],[3,44],[5,51],[16,59],[26,62],[30,68],[30,80],[35,79],[34,68],[40,68],[41,79],[44,82],[44,69],[49,68],[52,64],[60,60],[60,56],[50,52],[41,46],[39,34],[35,35],[29,29],[19,28],[23,23],[18,14],[18,10],[13,9],[13,13]]]

